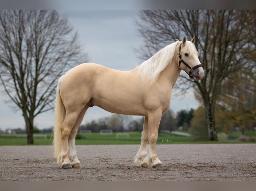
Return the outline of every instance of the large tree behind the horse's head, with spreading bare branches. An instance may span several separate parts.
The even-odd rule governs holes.
[[[137,25],[144,37],[140,58],[148,59],[183,35],[188,38],[196,36],[195,45],[200,53],[205,77],[201,81],[194,81],[181,73],[175,86],[182,88],[182,91],[195,87],[200,92],[209,140],[218,140],[214,113],[222,82],[235,72],[246,75],[253,68],[255,70],[255,11],[143,10],[139,16]]]

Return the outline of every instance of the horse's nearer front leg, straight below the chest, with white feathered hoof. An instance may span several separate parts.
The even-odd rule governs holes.
[[[158,136],[158,127],[160,124],[162,111],[152,112],[148,116],[148,136],[149,136],[149,153],[147,158],[148,167],[161,167],[162,162],[158,159],[156,154],[156,141]]]

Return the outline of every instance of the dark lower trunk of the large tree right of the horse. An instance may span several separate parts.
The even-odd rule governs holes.
[[[218,141],[217,132],[215,128],[215,119],[212,112],[211,104],[205,106],[206,122],[208,128],[208,135],[210,141]]]

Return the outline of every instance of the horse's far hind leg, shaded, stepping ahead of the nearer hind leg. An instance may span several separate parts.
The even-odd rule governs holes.
[[[73,128],[70,132],[70,135],[69,135],[69,159],[70,159],[70,162],[71,162],[71,165],[72,165],[73,168],[82,168],[81,164],[80,164],[80,161],[77,158],[75,138],[76,138],[78,128],[79,128],[80,124],[83,121],[85,112],[87,111],[88,107],[89,106],[86,105],[83,108],[83,110],[80,112],[80,114],[78,115],[77,120],[76,120],[76,122],[75,122],[75,124],[74,124],[74,126],[73,126]]]

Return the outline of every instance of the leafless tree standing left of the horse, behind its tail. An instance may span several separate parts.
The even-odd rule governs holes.
[[[0,82],[22,110],[31,144],[34,118],[53,109],[58,78],[86,54],[68,19],[54,10],[1,10],[0,34]]]

